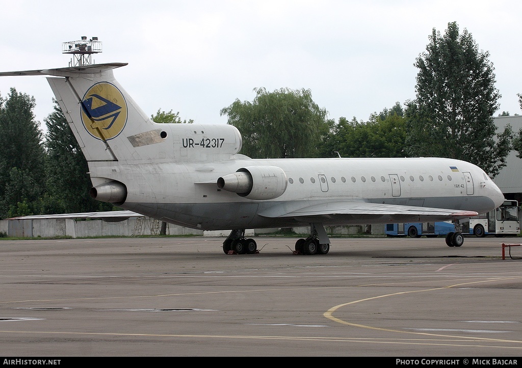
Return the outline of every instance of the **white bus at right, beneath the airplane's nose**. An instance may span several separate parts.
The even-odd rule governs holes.
[[[470,217],[469,234],[474,234],[478,238],[486,235],[502,237],[503,235],[520,234],[518,202],[506,200],[494,211]]]

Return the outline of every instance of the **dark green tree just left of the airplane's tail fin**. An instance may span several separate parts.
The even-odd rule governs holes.
[[[60,106],[44,119],[47,126],[46,171],[48,196],[41,200],[41,213],[110,211],[113,205],[92,199],[89,168]]]

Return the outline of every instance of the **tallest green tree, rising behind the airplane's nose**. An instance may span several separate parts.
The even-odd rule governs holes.
[[[505,166],[512,131],[495,132],[500,94],[489,53],[453,22],[444,35],[433,29],[414,65],[417,97],[405,112],[409,155],[458,158],[494,177]]]

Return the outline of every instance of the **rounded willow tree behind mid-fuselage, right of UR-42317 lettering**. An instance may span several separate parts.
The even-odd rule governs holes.
[[[254,91],[253,102],[236,100],[221,109],[228,124],[241,131],[241,153],[253,158],[316,157],[327,112],[312,100],[311,91]]]

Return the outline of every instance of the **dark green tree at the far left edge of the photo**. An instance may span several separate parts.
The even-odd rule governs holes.
[[[33,213],[45,191],[42,132],[34,120],[34,97],[11,88],[7,99],[0,96],[0,216]],[[23,207],[23,206],[22,206]],[[24,207],[25,208],[25,207]]]

